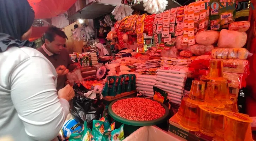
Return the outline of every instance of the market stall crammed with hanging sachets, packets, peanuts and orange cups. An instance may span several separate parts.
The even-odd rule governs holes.
[[[76,121],[71,125],[86,126],[73,130],[65,125],[63,132],[75,134],[64,137],[137,141],[159,132],[163,140],[252,140],[252,119],[238,108],[239,91],[250,74],[246,59],[252,53],[244,48],[250,22],[235,20],[235,9],[227,8],[232,2],[217,9],[207,2],[220,3],[160,5],[160,11],[146,10],[151,14],[118,15],[115,9],[117,22],[106,37],[115,55],[98,55],[95,43],[88,48],[91,53],[70,55],[82,67],[96,67],[93,80],[81,76],[73,81],[76,103],[94,104],[87,105],[93,116],[82,106],[83,114],[71,113]]]

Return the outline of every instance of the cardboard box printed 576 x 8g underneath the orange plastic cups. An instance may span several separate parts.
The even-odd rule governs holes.
[[[214,141],[213,137],[204,135],[200,131],[190,131],[179,125],[180,119],[174,115],[169,119],[168,133],[177,135],[182,141]],[[253,127],[253,126],[252,126]],[[253,141],[251,133],[251,125],[248,126],[246,131],[245,141]]]

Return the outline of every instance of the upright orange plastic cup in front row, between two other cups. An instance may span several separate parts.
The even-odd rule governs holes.
[[[211,107],[202,106],[200,108],[200,126],[201,133],[213,137],[215,135],[215,121],[219,115],[222,115],[221,110]]]

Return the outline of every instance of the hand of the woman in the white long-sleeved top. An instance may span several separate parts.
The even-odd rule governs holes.
[[[58,92],[59,98],[64,98],[67,101],[71,100],[75,96],[73,88],[68,84],[66,87],[62,88]]]

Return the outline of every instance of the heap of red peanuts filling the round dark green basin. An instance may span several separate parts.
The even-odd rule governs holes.
[[[112,110],[117,116],[134,121],[150,121],[165,114],[165,109],[160,103],[146,98],[117,100],[112,105]]]

